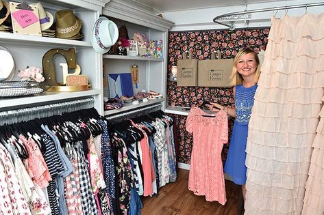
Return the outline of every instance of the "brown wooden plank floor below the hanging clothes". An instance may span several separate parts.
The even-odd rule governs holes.
[[[240,186],[225,180],[227,202],[221,205],[217,201],[205,201],[188,190],[189,171],[179,169],[177,181],[160,188],[158,197],[142,199],[142,215],[236,215]]]

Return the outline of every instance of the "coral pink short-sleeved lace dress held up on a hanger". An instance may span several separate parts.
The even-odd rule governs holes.
[[[205,195],[207,201],[219,201],[224,205],[226,192],[221,151],[228,141],[227,113],[219,111],[215,117],[203,115],[210,114],[192,108],[186,119],[186,130],[193,135],[188,189],[195,195]]]

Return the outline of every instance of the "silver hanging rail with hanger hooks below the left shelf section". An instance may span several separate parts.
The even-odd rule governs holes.
[[[62,113],[69,113],[82,109],[90,109],[93,107],[94,102],[95,99],[90,97],[79,100],[32,106],[24,109],[2,111],[0,112],[0,126],[3,126],[4,124],[14,124],[21,121],[29,121],[36,118],[40,119],[50,117],[52,115],[60,115]]]

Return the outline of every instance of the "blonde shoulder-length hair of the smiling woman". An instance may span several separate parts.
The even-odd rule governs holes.
[[[236,56],[234,58],[232,74],[229,77],[229,80],[231,81],[233,86],[241,85],[243,83],[243,78],[238,73],[238,70],[236,69],[236,66],[238,65],[238,61],[241,59],[241,57],[243,57],[244,55],[249,54],[249,53],[253,54],[254,59],[256,59],[256,64],[257,64],[256,76],[254,76],[254,82],[257,83],[258,80],[259,80],[259,76],[260,76],[260,60],[259,60],[258,54],[255,51],[253,51],[251,48],[243,48],[242,50],[240,50],[236,54]]]

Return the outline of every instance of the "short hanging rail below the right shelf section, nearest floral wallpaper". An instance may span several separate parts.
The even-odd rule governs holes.
[[[133,111],[127,111],[124,113],[118,113],[116,115],[110,115],[105,117],[108,121],[110,121],[110,124],[116,124],[121,121],[125,121],[126,119],[129,119],[129,117],[139,117],[141,115],[146,115],[147,113],[151,113],[154,111],[160,110],[162,107],[162,104],[152,104],[150,106],[145,106],[143,108],[138,108]]]

